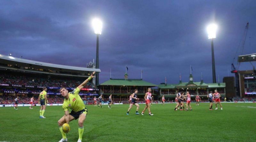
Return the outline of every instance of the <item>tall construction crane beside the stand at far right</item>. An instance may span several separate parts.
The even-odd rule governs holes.
[[[242,38],[242,41],[240,41],[238,47],[237,47],[237,50],[236,50],[236,54],[235,54],[235,57],[233,59],[233,63],[231,64],[231,73],[235,73],[235,76],[236,76],[236,96],[240,96],[240,87],[239,87],[239,77],[238,77],[238,69],[239,69],[239,65],[240,65],[240,62],[237,62],[238,64],[238,68],[236,70],[236,67],[234,66],[234,61],[235,61],[235,58],[237,56],[237,52],[240,48],[240,45],[241,46],[241,49],[240,49],[240,55],[243,54],[243,51],[244,51],[244,44],[245,44],[245,40],[246,40],[246,36],[247,36],[247,31],[248,31],[248,28],[249,28],[249,22],[246,24],[245,26],[245,29],[244,29],[244,34],[243,34],[243,38]],[[242,43],[242,44],[241,44]]]

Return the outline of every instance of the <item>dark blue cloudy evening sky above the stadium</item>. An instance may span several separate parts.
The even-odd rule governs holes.
[[[143,79],[154,84],[165,77],[178,83],[180,73],[185,82],[190,64],[195,81],[202,72],[204,82],[211,83],[206,26],[212,22],[218,24],[214,50],[221,82],[247,22],[243,54],[256,53],[255,0],[1,0],[0,54],[85,67],[96,58],[95,17],[103,22],[100,83],[110,78],[110,68],[112,78],[124,78],[125,65],[129,78],[140,78],[143,70]],[[239,67],[251,69],[249,63]]]

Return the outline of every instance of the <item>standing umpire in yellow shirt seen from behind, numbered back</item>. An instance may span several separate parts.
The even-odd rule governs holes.
[[[39,94],[39,97],[38,97],[38,104],[40,103],[41,105],[41,108],[40,108],[40,118],[45,118],[44,117],[44,111],[45,111],[45,108],[46,108],[46,104],[48,103],[48,100],[47,100],[47,97],[46,97],[46,91],[47,91],[47,88],[44,87],[43,88],[43,91]]]

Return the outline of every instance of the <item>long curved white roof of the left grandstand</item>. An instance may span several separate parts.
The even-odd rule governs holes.
[[[67,65],[60,65],[60,64],[51,64],[51,63],[44,63],[38,62],[33,60],[27,60],[22,58],[16,58],[12,56],[5,56],[0,54],[0,63],[10,64],[10,63],[21,63],[21,64],[30,64],[31,66],[41,66],[47,68],[58,68],[58,69],[66,69],[66,70],[75,70],[75,71],[95,71],[100,72],[100,69],[93,69],[93,68],[83,68],[83,67],[75,67],[75,66],[67,66]]]

